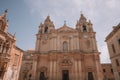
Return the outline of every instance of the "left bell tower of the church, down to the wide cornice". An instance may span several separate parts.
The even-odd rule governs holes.
[[[48,36],[50,33],[54,32],[55,26],[53,22],[50,19],[50,16],[48,15],[47,18],[45,19],[44,23],[41,23],[39,26],[38,34],[37,36],[37,41],[36,41],[36,51],[40,51],[41,48],[45,48],[42,50],[48,50],[49,49],[49,41],[48,41]],[[42,46],[44,45],[44,46]],[[47,48],[48,47],[48,48]]]

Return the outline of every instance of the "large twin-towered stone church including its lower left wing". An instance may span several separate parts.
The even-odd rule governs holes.
[[[76,28],[39,26],[35,50],[24,53],[19,80],[103,80],[93,24],[81,14]]]

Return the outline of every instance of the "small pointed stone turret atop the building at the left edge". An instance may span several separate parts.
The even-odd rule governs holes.
[[[0,16],[0,30],[3,32],[7,32],[8,30],[8,21],[6,20],[7,10]]]

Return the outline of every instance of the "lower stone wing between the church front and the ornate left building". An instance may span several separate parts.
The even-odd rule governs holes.
[[[35,69],[36,66],[33,66],[33,63],[36,64],[34,61],[35,59],[33,58],[34,56],[32,55],[33,52],[35,52],[35,51],[29,50],[23,54],[21,70],[20,70],[20,74],[19,74],[20,76],[19,76],[18,80],[35,80],[32,77],[36,70]],[[33,70],[33,69],[35,69],[35,70]]]

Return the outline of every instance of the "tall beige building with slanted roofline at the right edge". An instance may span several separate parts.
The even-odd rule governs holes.
[[[120,80],[120,23],[106,37],[115,80]]]

